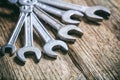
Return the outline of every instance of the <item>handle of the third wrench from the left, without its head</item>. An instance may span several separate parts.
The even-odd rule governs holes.
[[[54,40],[54,38],[48,33],[43,24],[39,21],[37,16],[33,13],[34,28],[38,34],[42,37],[45,43]]]

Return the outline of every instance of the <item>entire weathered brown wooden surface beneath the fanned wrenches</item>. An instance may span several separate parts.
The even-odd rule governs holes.
[[[82,39],[69,44],[67,55],[58,53],[56,60],[42,56],[39,63],[28,56],[25,65],[5,54],[0,58],[2,80],[119,80],[120,79],[120,1],[119,0],[66,0],[82,5],[104,5],[111,9],[109,20],[101,25],[81,21]],[[8,5],[0,6],[0,46],[7,43],[17,22],[18,11]],[[23,46],[23,32],[16,46]],[[42,41],[35,36],[35,44]]]

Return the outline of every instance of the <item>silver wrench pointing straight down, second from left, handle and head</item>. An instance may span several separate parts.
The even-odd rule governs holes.
[[[34,46],[33,44],[33,23],[32,23],[32,13],[29,13],[29,16],[25,20],[25,45],[23,48],[20,48],[17,52],[18,58],[22,62],[26,62],[26,58],[24,56],[25,53],[34,53],[37,60],[39,61],[41,58],[41,51]]]

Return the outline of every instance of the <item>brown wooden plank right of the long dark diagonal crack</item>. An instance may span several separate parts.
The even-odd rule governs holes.
[[[84,3],[84,1],[81,2]],[[112,6],[109,1],[103,0],[89,0],[86,3],[88,5],[107,5],[110,9]],[[119,11],[114,8],[111,9],[112,13],[114,11],[115,13],[112,14],[110,20],[104,21],[99,26],[81,22],[80,27],[84,31],[84,36],[70,46],[72,49],[71,56],[74,57],[73,62],[76,60],[83,73],[86,76],[92,76],[92,79],[117,80],[119,76],[118,68],[115,66],[119,64],[120,59],[120,42],[117,39],[119,29],[115,29],[115,25],[118,24],[113,23],[119,19]],[[91,79],[91,77],[87,78]]]

